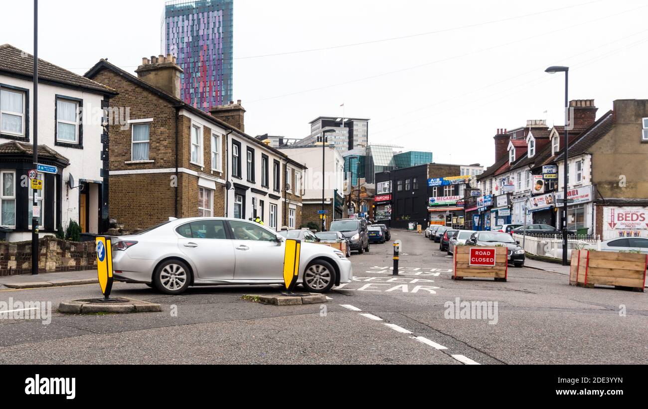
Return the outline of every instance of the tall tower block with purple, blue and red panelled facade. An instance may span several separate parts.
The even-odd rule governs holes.
[[[183,69],[180,98],[209,112],[232,100],[233,0],[173,0],[161,21],[161,54]]]

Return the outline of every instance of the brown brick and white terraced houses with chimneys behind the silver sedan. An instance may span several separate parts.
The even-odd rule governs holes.
[[[183,102],[170,54],[143,58],[135,72],[100,60],[86,73],[119,93],[110,107],[121,119],[110,125],[110,217],[134,230],[168,217],[259,216],[279,230],[281,169],[304,167],[244,133],[240,101],[211,115]]]

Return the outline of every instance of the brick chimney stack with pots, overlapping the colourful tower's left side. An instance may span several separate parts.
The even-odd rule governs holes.
[[[150,60],[143,57],[142,65],[135,72],[140,80],[180,98],[180,74],[183,71],[171,54],[151,56]]]

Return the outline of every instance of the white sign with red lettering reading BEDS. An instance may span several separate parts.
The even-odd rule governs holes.
[[[648,237],[648,208],[610,206],[603,210],[603,239]]]

